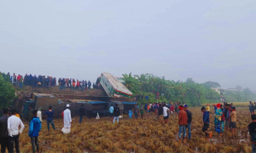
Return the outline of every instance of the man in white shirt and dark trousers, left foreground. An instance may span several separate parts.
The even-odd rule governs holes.
[[[19,146],[19,137],[20,133],[22,133],[24,129],[24,124],[21,122],[19,117],[15,116],[16,110],[11,110],[11,116],[8,118],[8,132],[9,132],[9,152],[14,152],[14,144],[15,150],[17,153],[20,152]],[[20,130],[19,130],[20,127]]]

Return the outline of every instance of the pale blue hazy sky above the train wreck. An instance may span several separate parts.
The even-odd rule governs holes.
[[[1,1],[0,71],[102,71],[256,90],[255,0]]]

